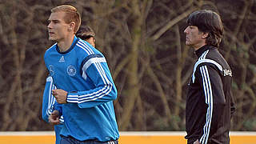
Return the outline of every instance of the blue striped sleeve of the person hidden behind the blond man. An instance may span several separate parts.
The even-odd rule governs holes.
[[[54,103],[56,102],[51,90],[56,89],[53,84],[53,78],[46,78],[46,86],[42,96],[42,119],[48,122],[49,115],[54,110]],[[57,102],[56,102],[57,103]]]

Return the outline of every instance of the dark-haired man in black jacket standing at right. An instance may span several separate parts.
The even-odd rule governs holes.
[[[230,143],[230,119],[234,114],[232,71],[218,51],[223,25],[211,10],[198,10],[187,19],[186,45],[198,57],[186,95],[188,144]]]

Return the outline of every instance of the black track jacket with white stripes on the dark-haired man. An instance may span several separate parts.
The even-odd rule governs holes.
[[[198,61],[186,95],[186,139],[201,144],[230,143],[230,119],[234,114],[232,71],[214,46],[195,51]]]

